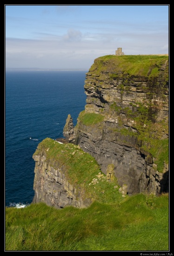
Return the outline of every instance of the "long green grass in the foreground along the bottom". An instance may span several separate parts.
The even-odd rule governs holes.
[[[45,203],[6,208],[6,251],[168,250],[168,194],[95,201],[86,209]]]

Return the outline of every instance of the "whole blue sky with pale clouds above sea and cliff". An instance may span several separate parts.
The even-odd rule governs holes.
[[[5,5],[6,68],[89,70],[115,54],[168,54],[169,5]]]

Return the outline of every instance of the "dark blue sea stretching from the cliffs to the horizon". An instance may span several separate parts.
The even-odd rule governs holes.
[[[85,109],[87,71],[6,71],[5,204],[33,201],[32,158],[45,138],[63,137],[67,115],[74,126]]]

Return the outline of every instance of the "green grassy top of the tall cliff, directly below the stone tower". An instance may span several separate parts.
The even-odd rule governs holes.
[[[94,60],[89,73],[117,74],[123,76],[159,76],[165,71],[168,76],[168,54],[158,55],[105,55]],[[88,74],[88,73],[87,73]],[[164,74],[163,74],[164,77]]]

